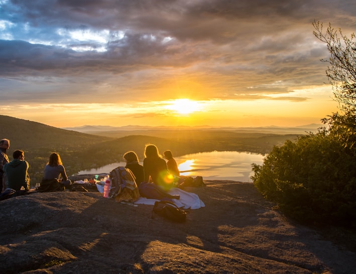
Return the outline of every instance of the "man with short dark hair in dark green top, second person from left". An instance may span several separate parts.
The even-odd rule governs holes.
[[[28,191],[30,189],[30,176],[27,173],[29,163],[25,161],[23,151],[14,151],[13,157],[14,160],[5,164],[3,168],[8,179],[7,188],[19,192],[21,187],[24,187],[24,191]]]

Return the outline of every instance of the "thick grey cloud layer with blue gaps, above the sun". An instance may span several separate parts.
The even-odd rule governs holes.
[[[308,101],[293,91],[322,85],[328,56],[311,23],[347,33],[355,10],[348,0],[2,0],[2,100]]]

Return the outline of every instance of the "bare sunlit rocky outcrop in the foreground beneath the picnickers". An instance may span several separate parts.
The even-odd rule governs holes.
[[[89,179],[89,178],[88,178]],[[34,193],[0,202],[3,273],[351,273],[356,254],[295,224],[253,184],[186,189],[205,207],[185,223],[98,192]]]

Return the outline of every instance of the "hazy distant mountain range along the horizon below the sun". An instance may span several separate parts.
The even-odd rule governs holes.
[[[305,132],[317,132],[317,129],[322,124],[307,124],[295,127],[283,126],[261,126],[261,127],[233,127],[233,126],[143,126],[143,125],[125,125],[125,126],[110,126],[110,125],[83,125],[76,127],[63,127],[63,129],[74,130],[82,133],[103,133],[103,132],[120,132],[120,131],[148,131],[148,130],[227,130],[234,132],[260,132],[260,133],[278,133],[278,134],[305,134]]]

